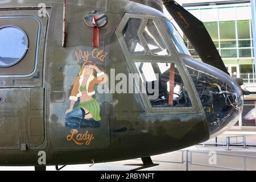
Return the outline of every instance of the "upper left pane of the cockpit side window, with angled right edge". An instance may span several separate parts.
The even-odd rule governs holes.
[[[138,30],[141,26],[141,22],[141,19],[130,18],[122,32],[129,51],[134,54],[146,53],[144,46],[138,36]]]

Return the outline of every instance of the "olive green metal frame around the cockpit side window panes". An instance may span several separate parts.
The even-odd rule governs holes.
[[[139,17],[139,18],[138,18]],[[141,40],[143,46],[145,47],[146,55],[134,55],[129,51],[129,48],[126,44],[125,38],[122,35],[123,28],[126,26],[128,20],[130,18],[137,18],[141,19],[142,23],[140,28],[138,29],[138,37]],[[143,31],[147,25],[148,20],[153,20],[156,28],[159,31],[160,36],[162,36],[162,40],[164,44],[166,44],[166,48],[168,49],[170,55],[152,55],[150,49],[146,44],[146,40],[143,38]],[[191,84],[192,78],[189,77],[189,73],[187,68],[185,67],[183,61],[180,59],[179,56],[184,56],[180,54],[174,46],[174,43],[171,41],[171,38],[167,35],[166,30],[163,27],[163,20],[166,20],[161,17],[151,16],[151,15],[139,15],[139,14],[130,14],[126,13],[121,22],[118,25],[115,34],[117,36],[118,42],[122,48],[123,54],[126,59],[126,63],[129,67],[130,73],[139,73],[135,63],[136,62],[144,62],[144,63],[174,63],[179,71],[179,74],[183,80],[184,86],[187,89],[188,96],[191,100],[192,107],[152,107],[150,100],[148,99],[147,94],[139,93],[143,105],[147,111],[147,114],[184,114],[185,113],[202,113],[203,107],[199,104],[198,96],[196,95],[195,86]],[[163,34],[162,34],[163,32]],[[167,41],[168,40],[168,41]],[[189,56],[191,57],[191,56]],[[134,80],[136,89],[139,88],[139,83],[137,80]]]

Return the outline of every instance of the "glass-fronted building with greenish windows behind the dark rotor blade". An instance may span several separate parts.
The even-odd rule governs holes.
[[[250,1],[182,3],[185,9],[204,23],[230,75],[243,78],[246,88],[256,91]],[[191,55],[199,59],[185,36],[184,40]],[[242,117],[233,129],[256,130],[255,100],[256,96],[245,98]]]

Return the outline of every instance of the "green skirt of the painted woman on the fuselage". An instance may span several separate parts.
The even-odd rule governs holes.
[[[79,107],[87,109],[90,112],[90,114],[92,114],[92,117],[95,121],[100,121],[101,120],[100,104],[98,104],[98,101],[96,101],[94,98],[92,98],[92,100],[89,100],[87,102],[80,103]]]

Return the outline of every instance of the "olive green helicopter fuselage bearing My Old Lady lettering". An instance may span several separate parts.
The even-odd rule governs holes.
[[[39,3],[24,0],[0,4],[0,27],[18,26],[26,31],[30,42],[22,61],[14,67],[0,68],[0,96],[5,98],[0,104],[0,166],[37,166],[39,151],[46,152],[46,165],[112,162],[163,154],[209,138],[199,101],[193,102],[189,111],[152,113],[139,93],[96,90],[93,98],[100,104],[100,128],[77,129],[75,133],[65,127],[69,96],[86,55],[109,75],[109,81],[115,79],[111,77],[112,69],[115,75],[129,75],[116,30],[134,3],[68,2],[65,47],[63,1],[44,1],[43,17],[38,15],[42,8]],[[84,15],[92,10],[101,11],[108,18],[108,23],[99,28],[98,48],[92,47],[93,28],[84,23]],[[151,15],[149,10],[139,12]],[[3,18],[6,16],[9,18]],[[179,56],[173,56],[179,60]],[[189,84],[187,72],[181,74]],[[193,93],[191,99],[197,101],[195,88],[191,85],[187,89]]]

